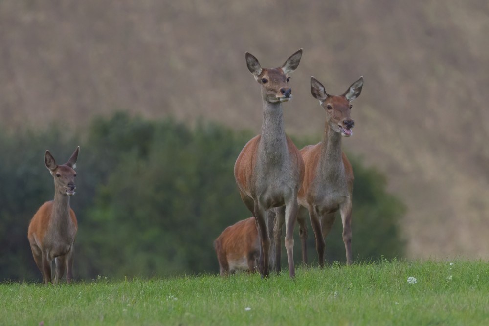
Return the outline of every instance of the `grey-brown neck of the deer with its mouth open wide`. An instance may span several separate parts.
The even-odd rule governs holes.
[[[339,179],[345,173],[341,138],[341,134],[332,130],[329,124],[326,123],[321,145],[319,169],[321,175],[331,181]]]

